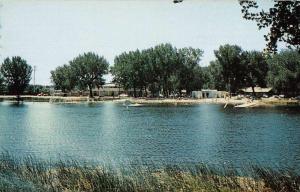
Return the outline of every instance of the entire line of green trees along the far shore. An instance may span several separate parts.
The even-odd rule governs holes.
[[[277,94],[300,94],[300,54],[297,50],[283,50],[276,54],[245,51],[237,45],[222,45],[214,51],[216,59],[208,66],[200,66],[201,49],[176,48],[160,44],[144,50],[121,53],[109,68],[108,61],[88,52],[75,57],[68,64],[51,71],[55,89],[63,92],[92,89],[104,84],[103,75],[111,73],[113,81],[133,95],[156,97],[160,94],[190,94],[203,88],[237,93],[245,87],[272,87]],[[0,93],[20,95],[29,85],[32,67],[19,56],[6,58],[0,67]],[[43,87],[38,86],[38,90]],[[255,92],[254,92],[255,93]]]

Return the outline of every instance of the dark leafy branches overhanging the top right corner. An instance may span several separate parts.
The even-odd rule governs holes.
[[[265,35],[269,51],[277,51],[278,41],[300,51],[300,1],[274,1],[274,7],[268,11],[258,11],[256,1],[240,1],[240,4],[245,19],[256,21],[259,29],[269,28]]]

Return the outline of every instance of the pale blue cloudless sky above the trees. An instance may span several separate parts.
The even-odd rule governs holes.
[[[0,0],[1,62],[19,55],[37,66],[36,82],[50,71],[93,51],[110,64],[123,51],[159,43],[204,50],[200,65],[222,44],[262,50],[264,32],[242,18],[237,0]],[[111,77],[107,77],[109,81]]]

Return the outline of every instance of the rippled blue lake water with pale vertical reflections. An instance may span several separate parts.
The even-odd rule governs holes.
[[[18,157],[245,163],[300,170],[300,108],[0,102],[0,146]]]

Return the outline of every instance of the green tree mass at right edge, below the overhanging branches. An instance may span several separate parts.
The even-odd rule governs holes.
[[[278,93],[287,96],[300,94],[300,54],[282,51],[268,59],[268,83]]]

